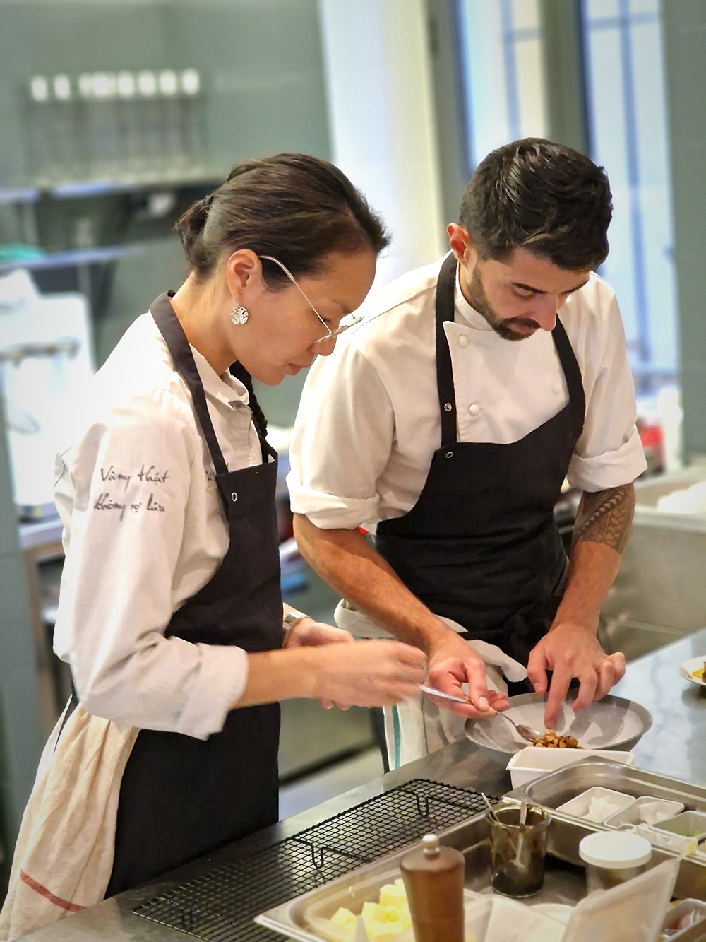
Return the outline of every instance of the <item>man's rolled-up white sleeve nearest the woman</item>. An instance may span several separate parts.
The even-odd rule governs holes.
[[[377,520],[377,479],[393,430],[392,402],[360,350],[347,345],[335,358],[319,357],[304,384],[290,445],[292,511],[322,529]]]

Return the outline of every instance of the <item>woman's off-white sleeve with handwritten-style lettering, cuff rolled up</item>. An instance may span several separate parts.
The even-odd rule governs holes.
[[[148,410],[105,414],[59,458],[56,503],[70,538],[55,647],[88,712],[206,739],[241,696],[248,655],[165,637],[189,551],[192,475],[204,475],[188,421],[155,393]]]

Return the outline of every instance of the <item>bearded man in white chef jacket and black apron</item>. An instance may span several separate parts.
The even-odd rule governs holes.
[[[624,673],[596,632],[646,463],[618,303],[595,273],[611,215],[583,154],[539,138],[493,151],[451,252],[371,295],[307,378],[287,479],[302,554],[359,634],[424,649],[439,690],[468,685],[455,716],[386,714],[393,765],[507,707],[489,690],[495,649],[469,642],[549,686],[547,728],[572,678],[578,712]],[[583,492],[569,560],[553,513],[566,479]]]

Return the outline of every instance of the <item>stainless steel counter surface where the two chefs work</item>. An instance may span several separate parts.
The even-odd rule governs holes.
[[[701,654],[706,655],[706,629],[633,661],[628,666],[627,676],[615,688],[615,692],[641,703],[653,717],[650,730],[634,748],[635,764],[643,769],[663,772],[702,785],[706,784],[706,750],[703,749],[706,696],[701,690],[706,688],[690,684],[679,674],[679,667],[684,660]],[[185,934],[134,916],[132,909],[136,904],[152,899],[175,881],[191,879],[217,864],[297,834],[304,828],[413,778],[427,778],[500,795],[510,788],[505,762],[504,755],[479,749],[468,740],[456,742],[361,788],[354,788],[294,818],[281,821],[217,854],[176,870],[170,874],[169,880],[122,893],[25,937],[31,938],[32,942],[104,942],[105,939],[111,942],[177,942],[185,939]]]

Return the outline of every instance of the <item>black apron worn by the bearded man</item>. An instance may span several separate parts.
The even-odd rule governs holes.
[[[409,590],[467,638],[527,663],[551,625],[567,565],[554,504],[584,427],[581,371],[557,318],[552,332],[569,403],[510,445],[457,441],[454,377],[444,321],[454,320],[456,259],[443,262],[436,298],[441,448],[404,516],[377,525],[377,551]]]

